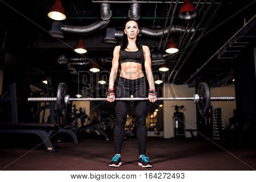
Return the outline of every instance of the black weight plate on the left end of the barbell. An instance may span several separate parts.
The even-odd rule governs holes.
[[[57,89],[57,107],[63,115],[66,114],[67,104],[65,104],[65,96],[67,95],[67,86],[60,83]]]

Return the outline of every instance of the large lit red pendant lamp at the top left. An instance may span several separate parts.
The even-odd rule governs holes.
[[[60,0],[56,0],[54,5],[52,5],[49,13],[49,18],[54,20],[64,20],[66,19],[65,10],[61,4]]]

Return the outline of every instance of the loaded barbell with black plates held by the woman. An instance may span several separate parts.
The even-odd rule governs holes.
[[[67,86],[61,82],[57,88],[56,97],[30,97],[28,102],[57,102],[57,108],[65,115],[67,105],[71,101],[106,101],[105,98],[71,98],[67,94]],[[148,98],[115,98],[117,101],[144,101]],[[210,101],[234,101],[235,97],[212,97],[210,96],[210,89],[206,82],[201,82],[197,89],[197,93],[193,97],[158,97],[159,101],[193,101],[201,115],[209,113]]]

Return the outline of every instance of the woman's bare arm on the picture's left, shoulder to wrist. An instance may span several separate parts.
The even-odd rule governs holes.
[[[119,51],[121,46],[115,46],[113,52],[112,68],[109,75],[109,89],[114,88],[115,78],[117,77],[117,71],[119,66]]]

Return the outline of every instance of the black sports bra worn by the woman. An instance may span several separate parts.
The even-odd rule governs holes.
[[[138,51],[125,51],[120,49],[119,53],[119,63],[126,63],[126,62],[135,62],[139,64],[143,64],[144,56],[143,56],[143,48],[141,45],[141,49]]]

